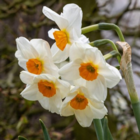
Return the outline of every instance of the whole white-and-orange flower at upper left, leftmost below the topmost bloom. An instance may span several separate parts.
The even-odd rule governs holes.
[[[24,37],[16,39],[19,65],[33,74],[48,73],[58,76],[58,68],[54,65],[50,46],[42,39],[27,40]]]

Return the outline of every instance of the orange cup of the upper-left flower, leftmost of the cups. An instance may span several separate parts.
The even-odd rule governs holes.
[[[27,70],[33,74],[41,74],[42,72],[42,63],[38,59],[29,59],[26,62]]]

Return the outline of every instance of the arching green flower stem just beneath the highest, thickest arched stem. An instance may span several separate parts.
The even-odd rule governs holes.
[[[113,41],[109,40],[109,39],[96,40],[96,41],[90,42],[90,45],[98,47],[100,45],[104,45],[104,44],[107,44],[107,43],[110,43],[113,50],[116,50],[119,53],[115,43]],[[121,61],[121,56],[120,55],[117,56],[117,60],[120,63],[120,61]]]

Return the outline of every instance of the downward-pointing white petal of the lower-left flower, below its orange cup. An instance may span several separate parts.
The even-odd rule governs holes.
[[[59,114],[60,107],[62,105],[61,96],[56,93],[53,97],[47,98],[44,97],[43,99],[39,100],[41,106],[52,113]]]

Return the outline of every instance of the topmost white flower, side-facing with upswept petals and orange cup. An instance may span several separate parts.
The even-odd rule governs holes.
[[[48,7],[43,7],[46,17],[54,21],[59,29],[51,29],[49,37],[55,39],[51,52],[55,63],[64,61],[69,56],[69,49],[75,41],[88,43],[88,39],[81,35],[82,10],[76,4],[67,4],[63,8],[63,13],[58,15]]]

